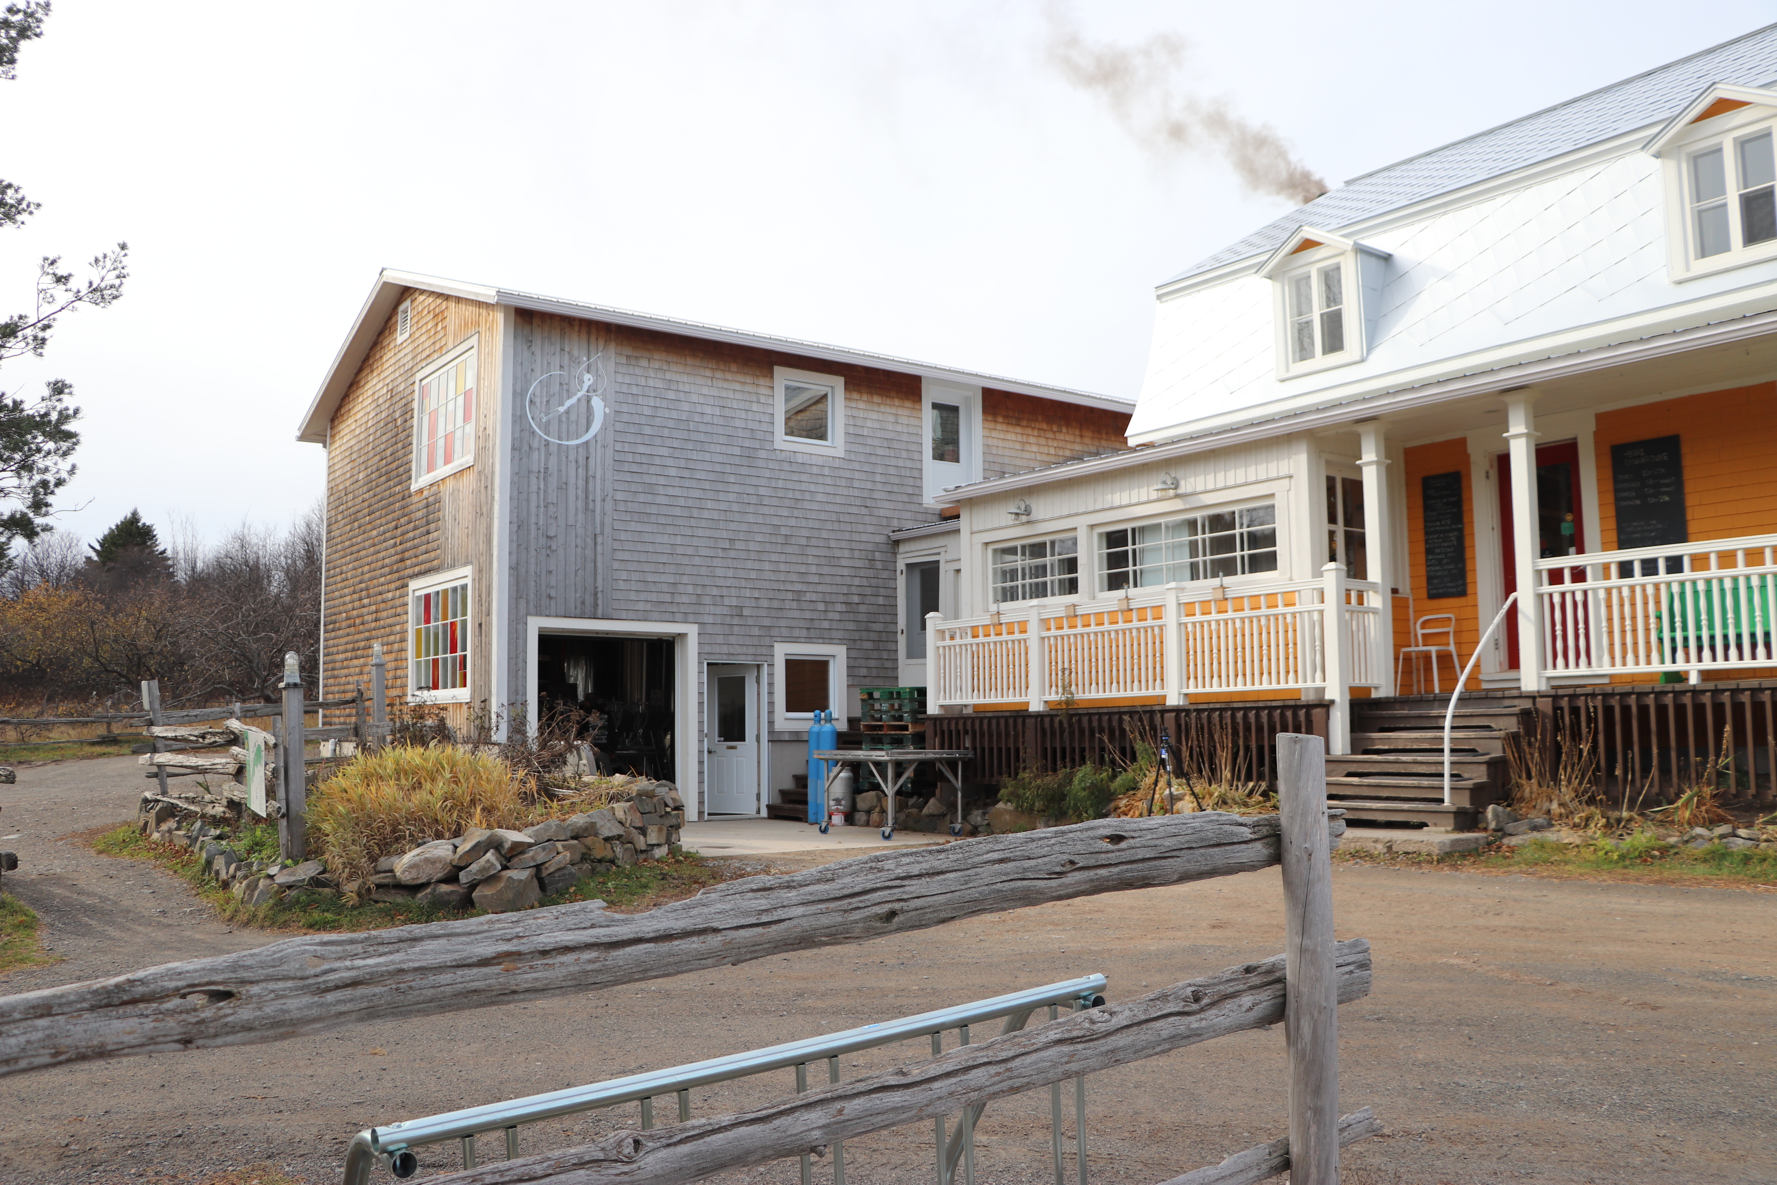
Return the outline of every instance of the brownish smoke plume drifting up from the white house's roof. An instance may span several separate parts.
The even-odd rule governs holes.
[[[1118,123],[1151,153],[1217,153],[1258,194],[1311,203],[1327,183],[1295,160],[1269,124],[1237,115],[1226,99],[1178,87],[1191,43],[1153,34],[1132,46],[1091,43],[1061,5],[1048,9],[1048,62],[1080,91],[1100,96]]]

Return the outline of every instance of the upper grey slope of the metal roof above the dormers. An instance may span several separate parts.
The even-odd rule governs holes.
[[[1313,224],[1336,231],[1660,123],[1711,84],[1766,85],[1772,78],[1777,78],[1777,25],[1766,25],[1590,94],[1365,172],[1223,247],[1166,284],[1249,256],[1263,256],[1299,226]]]

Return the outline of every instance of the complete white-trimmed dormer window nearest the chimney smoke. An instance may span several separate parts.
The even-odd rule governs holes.
[[[1361,362],[1368,348],[1365,295],[1379,304],[1388,252],[1299,227],[1258,270],[1276,288],[1278,378]]]

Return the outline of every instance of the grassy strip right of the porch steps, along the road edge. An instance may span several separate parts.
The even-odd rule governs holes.
[[[1555,879],[1633,881],[1646,885],[1718,885],[1724,888],[1777,888],[1777,851],[1733,851],[1669,847],[1656,835],[1638,831],[1624,840],[1557,844],[1535,839],[1518,847],[1493,844],[1478,853],[1430,856],[1384,855],[1363,847],[1333,853],[1340,863],[1438,867],[1450,872],[1519,872]]]

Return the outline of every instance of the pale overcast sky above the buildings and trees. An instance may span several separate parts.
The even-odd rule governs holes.
[[[1191,41],[1176,85],[1335,185],[1749,32],[1770,4],[1080,4]],[[1153,286],[1278,217],[1050,64],[1036,2],[55,0],[0,82],[36,258],[128,240],[124,298],[0,389],[75,384],[62,529],[215,537],[322,492],[302,410],[377,270],[1134,398]]]

